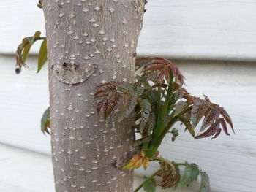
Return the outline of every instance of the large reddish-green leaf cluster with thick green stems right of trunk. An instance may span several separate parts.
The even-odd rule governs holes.
[[[102,112],[105,118],[118,108],[119,103],[123,106],[120,121],[133,115],[135,129],[141,135],[135,145],[143,144],[148,157],[156,153],[167,133],[173,134],[173,140],[177,137],[176,129],[170,131],[177,122],[196,139],[214,134],[213,138],[216,138],[222,131],[220,126],[230,135],[227,124],[233,130],[233,123],[227,111],[211,103],[207,96],[200,99],[188,93],[183,88],[183,75],[170,61],[140,58],[135,66],[140,70],[140,76],[134,84],[107,82],[99,85],[94,98],[98,99],[97,112]],[[195,128],[201,120],[199,134],[195,136]]]

